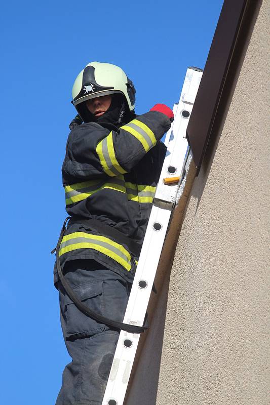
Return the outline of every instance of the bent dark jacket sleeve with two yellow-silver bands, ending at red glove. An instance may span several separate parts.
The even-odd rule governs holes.
[[[137,116],[118,132],[83,124],[69,135],[63,175],[86,180],[128,173],[170,126],[169,118],[158,111]]]

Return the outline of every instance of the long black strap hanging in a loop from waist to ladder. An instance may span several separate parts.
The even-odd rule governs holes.
[[[63,275],[62,269],[61,269],[60,258],[59,258],[59,249],[60,249],[61,241],[62,241],[63,235],[65,233],[65,230],[66,230],[66,223],[69,219],[70,219],[70,217],[67,217],[65,219],[63,227],[60,232],[60,236],[59,236],[56,248],[52,251],[52,254],[56,251],[57,273],[58,273],[62,286],[64,287],[68,297],[71,299],[71,301],[73,301],[73,303],[76,305],[76,307],[81,312],[83,312],[85,315],[90,316],[91,318],[97,320],[98,322],[105,323],[105,325],[110,326],[112,328],[122,329],[123,331],[126,331],[128,333],[137,333],[138,334],[138,333],[145,332],[147,327],[140,327],[140,326],[135,326],[135,325],[129,325],[129,323],[118,322],[115,320],[105,318],[104,316],[91,311],[91,309],[89,309],[86,305],[84,305],[78,299],[78,297],[74,294],[74,291],[68,284],[67,280],[64,278],[64,275]]]

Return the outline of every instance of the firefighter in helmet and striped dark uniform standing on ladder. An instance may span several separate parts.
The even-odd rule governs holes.
[[[72,103],[78,116],[62,166],[70,218],[54,270],[72,361],[56,405],[97,405],[127,327],[121,322],[166,153],[160,139],[173,112],[156,104],[136,115],[132,81],[120,67],[99,62],[76,77]]]

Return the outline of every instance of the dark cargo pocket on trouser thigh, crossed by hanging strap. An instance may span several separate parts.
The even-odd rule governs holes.
[[[103,282],[104,280],[94,280],[73,288],[78,299],[97,314],[103,313]],[[103,332],[105,329],[104,323],[97,322],[81,312],[67,295],[65,297],[65,316],[67,339],[91,336]]]

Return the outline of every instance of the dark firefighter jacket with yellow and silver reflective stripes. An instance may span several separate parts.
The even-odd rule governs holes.
[[[117,231],[142,245],[166,153],[160,139],[170,125],[165,114],[149,111],[119,129],[87,123],[70,132],[62,175],[71,221],[60,246],[62,266],[93,259],[132,281],[138,254]],[[91,219],[105,226],[93,228],[85,221]]]

